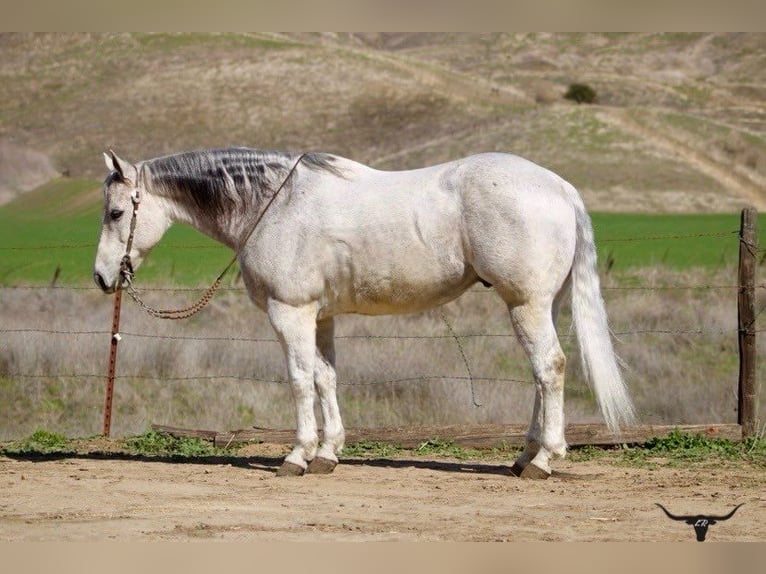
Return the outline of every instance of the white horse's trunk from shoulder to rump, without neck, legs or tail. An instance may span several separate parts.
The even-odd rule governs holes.
[[[411,171],[343,158],[335,167],[343,177],[307,180],[275,210],[279,224],[259,230],[254,255],[267,264],[254,267],[273,270],[263,280],[280,297],[314,293],[328,312],[386,314],[444,303],[480,279],[503,294],[568,273],[563,180],[532,162],[480,154]]]

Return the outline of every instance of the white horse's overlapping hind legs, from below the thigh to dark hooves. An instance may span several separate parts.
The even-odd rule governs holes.
[[[566,455],[566,358],[556,334],[553,306],[552,302],[509,306],[514,330],[535,376],[535,409],[527,433],[527,446],[514,464],[514,472],[525,478],[547,478],[551,473],[551,458]]]

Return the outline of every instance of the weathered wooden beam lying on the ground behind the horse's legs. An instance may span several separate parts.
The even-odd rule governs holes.
[[[215,446],[258,441],[272,444],[293,444],[295,431],[292,429],[250,428],[237,431],[194,431],[163,425],[152,425],[155,430],[168,432],[178,437],[197,437],[212,440]],[[740,440],[742,427],[738,424],[703,425],[640,425],[623,429],[619,436],[602,424],[571,424],[566,427],[567,443],[579,445],[612,445],[643,443],[652,437],[665,436],[673,430],[709,437]],[[346,443],[385,442],[402,448],[417,448],[427,440],[449,440],[467,448],[495,448],[501,446],[522,446],[526,436],[526,425],[446,425],[408,426],[397,428],[346,429]],[[321,431],[319,432],[321,438]]]

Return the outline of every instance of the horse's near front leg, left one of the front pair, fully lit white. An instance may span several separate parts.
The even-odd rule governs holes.
[[[285,457],[277,476],[300,476],[316,456],[319,444],[314,417],[317,306],[294,307],[270,300],[266,311],[287,361],[297,422],[295,447]]]

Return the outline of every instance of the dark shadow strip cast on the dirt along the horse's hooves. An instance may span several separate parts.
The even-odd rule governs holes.
[[[124,452],[54,452],[54,453],[18,453],[4,452],[3,456],[14,460],[30,462],[47,462],[55,460],[125,460],[135,462],[166,463],[166,464],[197,464],[197,465],[229,465],[247,470],[275,472],[282,464],[281,456],[163,456],[132,454]],[[495,475],[516,477],[512,467],[506,464],[486,464],[477,462],[441,461],[428,459],[392,459],[392,458],[341,458],[339,468],[343,466],[374,467],[374,468],[417,468],[437,472],[459,474]],[[337,471],[336,471],[337,472]],[[554,478],[575,479],[584,478],[566,472],[554,471]]]

